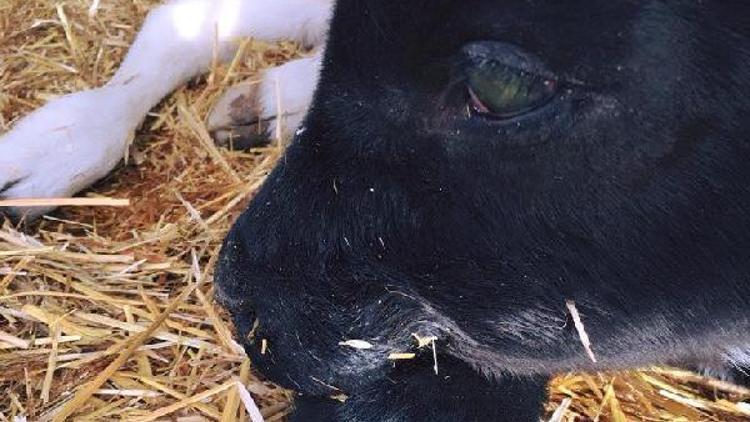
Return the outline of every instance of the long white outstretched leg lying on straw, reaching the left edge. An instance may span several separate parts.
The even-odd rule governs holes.
[[[124,156],[146,113],[209,67],[215,45],[222,59],[242,36],[320,45],[331,7],[332,0],[177,0],[157,7],[107,85],[53,100],[0,137],[0,197],[70,196],[90,186]]]

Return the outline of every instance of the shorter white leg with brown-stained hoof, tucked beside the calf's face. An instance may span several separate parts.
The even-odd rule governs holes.
[[[218,142],[241,146],[254,144],[254,138],[285,139],[310,107],[321,60],[318,50],[311,57],[266,70],[258,83],[231,87],[214,106],[208,129]]]

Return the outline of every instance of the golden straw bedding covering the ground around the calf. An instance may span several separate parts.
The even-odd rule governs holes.
[[[155,3],[0,1],[0,130],[104,83]],[[83,204],[129,206],[0,228],[0,421],[249,420],[255,404],[283,418],[289,393],[252,374],[211,299],[219,244],[279,150],[216,150],[202,121],[227,85],[300,54],[241,44],[244,55],[151,113],[130,162]],[[750,418],[750,391],[678,370],[569,374],[551,390],[557,420]]]

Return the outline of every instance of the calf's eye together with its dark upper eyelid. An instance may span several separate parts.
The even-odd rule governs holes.
[[[500,42],[464,47],[469,105],[480,115],[507,119],[533,111],[557,93],[558,80],[535,57]]]

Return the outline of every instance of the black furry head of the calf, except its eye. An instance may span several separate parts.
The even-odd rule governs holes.
[[[485,41],[537,57],[557,97],[467,113],[462,48]],[[748,116],[746,2],[341,0],[218,298],[304,420],[535,421],[559,371],[741,361]]]

